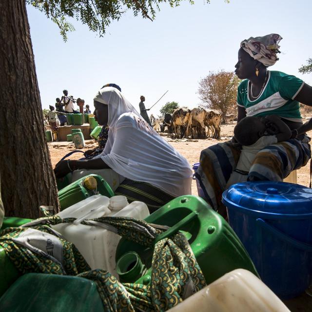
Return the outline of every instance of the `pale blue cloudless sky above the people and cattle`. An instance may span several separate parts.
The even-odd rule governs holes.
[[[167,101],[192,108],[201,103],[201,78],[209,71],[234,71],[240,41],[270,33],[283,37],[280,60],[271,69],[312,84],[312,74],[298,73],[312,58],[312,1],[195,0],[176,8],[162,3],[153,22],[128,11],[103,38],[74,21],[67,42],[44,14],[31,6],[27,12],[43,108],[54,105],[63,89],[93,107],[94,95],[109,82],[136,108],[140,95],[148,108],[169,90],[153,114]]]

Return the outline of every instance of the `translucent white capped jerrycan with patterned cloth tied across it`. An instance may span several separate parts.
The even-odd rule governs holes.
[[[76,217],[76,222],[53,226],[68,241],[74,243],[92,269],[104,269],[116,277],[115,253],[120,236],[100,225],[88,226],[79,222],[101,216],[128,216],[141,220],[149,215],[145,203],[134,201],[127,204],[127,199],[123,198],[126,206],[122,207],[120,199],[120,196],[117,200],[102,195],[91,196],[58,214],[62,218]]]

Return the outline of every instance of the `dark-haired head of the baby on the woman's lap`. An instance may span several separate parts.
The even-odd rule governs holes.
[[[234,137],[241,145],[252,145],[266,131],[265,123],[259,117],[245,117],[234,128]]]

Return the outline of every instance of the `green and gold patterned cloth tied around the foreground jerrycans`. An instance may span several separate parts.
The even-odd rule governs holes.
[[[122,284],[107,271],[90,270],[77,248],[60,237],[58,238],[63,246],[63,268],[57,261],[34,253],[14,240],[29,228],[56,235],[50,225],[70,223],[74,220],[75,218],[61,219],[54,215],[40,218],[23,227],[7,228],[0,232],[0,246],[21,273],[68,274],[94,281],[104,311],[166,311],[206,286],[204,276],[185,236],[177,233],[156,242],[164,227],[151,225],[142,220],[102,217],[81,223],[100,225],[146,247],[151,248],[156,242],[149,285]]]

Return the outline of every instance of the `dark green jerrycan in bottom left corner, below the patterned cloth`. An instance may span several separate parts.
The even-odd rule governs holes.
[[[0,297],[0,311],[103,312],[95,282],[78,276],[28,273]]]

